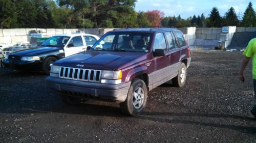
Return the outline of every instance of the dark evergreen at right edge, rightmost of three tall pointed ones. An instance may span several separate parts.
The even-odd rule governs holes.
[[[242,26],[245,27],[252,27],[252,26],[256,26],[256,16],[255,16],[255,11],[252,7],[252,3],[250,2],[249,5],[247,6],[244,16],[243,16],[243,20],[241,23]]]

